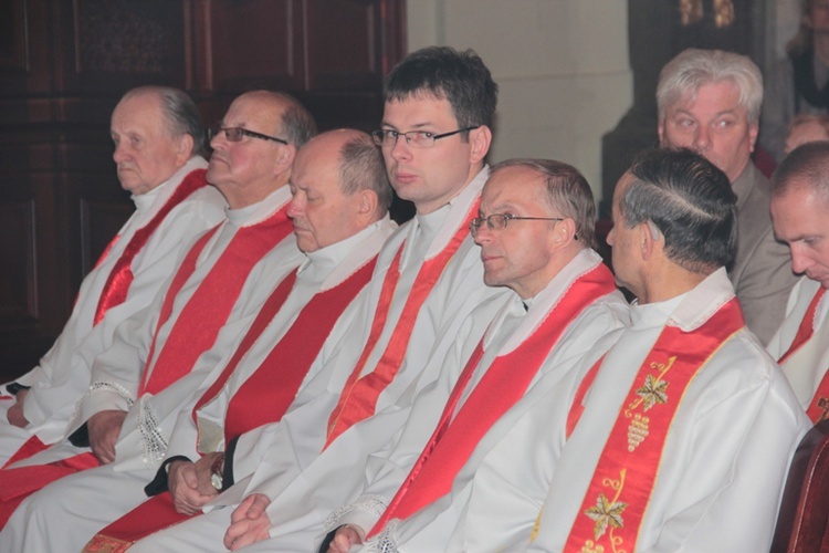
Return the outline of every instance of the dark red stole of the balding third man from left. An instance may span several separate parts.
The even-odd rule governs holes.
[[[224,417],[225,444],[253,428],[282,418],[296,397],[300,385],[311,368],[311,364],[319,354],[319,349],[330,334],[334,324],[359,291],[371,280],[376,261],[377,258],[375,257],[336,286],[316,293],[303,307],[296,321],[271,349],[262,365],[233,395]],[[274,291],[272,298],[277,295],[281,295],[279,289]],[[283,296],[281,303],[284,303],[284,300]],[[275,312],[267,317],[267,321],[273,319],[273,314]],[[256,317],[256,322],[260,319],[264,319],[261,313]],[[254,322],[254,325],[256,325],[256,322]],[[263,328],[264,326],[266,324],[263,325]],[[252,332],[253,326],[248,334],[250,335]],[[256,335],[261,332],[260,330]],[[248,335],[245,335],[243,343],[245,341],[248,341]],[[244,351],[246,352],[249,348],[250,345]],[[243,353],[239,355],[239,351],[237,351],[233,359],[237,359],[238,356],[241,358],[242,355]],[[232,359],[231,364],[235,366]],[[193,418],[196,418],[197,410],[201,406],[219,394],[227,384],[231,372],[225,368],[219,380],[213,383],[210,389],[202,395],[193,408]],[[220,384],[217,385],[217,383]],[[122,545],[128,547],[144,536],[190,518],[176,512],[169,492],[160,493],[98,532],[87,545],[86,551],[123,551],[118,547]]]

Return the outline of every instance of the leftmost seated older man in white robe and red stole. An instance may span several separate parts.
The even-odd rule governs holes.
[[[190,240],[224,219],[224,199],[208,186],[204,131],[183,92],[143,86],[115,106],[111,133],[118,180],[136,211],[81,284],[72,315],[39,365],[0,399],[0,466],[59,441],[90,386],[93,357],[115,327],[153,301]],[[19,390],[19,392],[18,392]],[[8,419],[8,422],[7,422]]]

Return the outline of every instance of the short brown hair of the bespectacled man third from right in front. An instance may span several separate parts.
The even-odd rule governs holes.
[[[596,204],[590,185],[578,169],[553,159],[506,159],[492,167],[490,178],[506,167],[525,167],[539,174],[549,207],[576,222],[576,237],[586,247],[597,247]]]

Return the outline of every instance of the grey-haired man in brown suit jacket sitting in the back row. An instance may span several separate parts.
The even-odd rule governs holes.
[[[754,62],[720,50],[685,50],[662,69],[657,87],[662,146],[705,156],[737,195],[737,255],[728,274],[746,325],[765,344],[783,321],[796,278],[786,247],[774,238],[768,180],[751,160],[762,103]]]

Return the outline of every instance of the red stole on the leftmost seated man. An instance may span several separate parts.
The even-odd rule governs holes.
[[[140,252],[144,247],[147,246],[147,242],[149,241],[153,233],[156,231],[156,229],[158,229],[158,227],[161,225],[167,215],[172,210],[172,208],[181,204],[181,201],[183,201],[196,190],[208,186],[204,175],[204,169],[197,169],[185,177],[178,188],[176,188],[176,190],[167,199],[165,205],[161,206],[161,209],[158,210],[153,219],[150,219],[147,225],[135,231],[135,234],[133,234],[129,243],[127,243],[126,248],[124,248],[124,252],[115,262],[109,276],[106,279],[106,284],[104,284],[104,289],[101,292],[101,299],[98,300],[98,306],[95,310],[95,319],[93,325],[97,325],[101,320],[104,319],[104,314],[109,307],[120,305],[127,299],[129,285],[133,283],[133,260],[138,254],[138,252]],[[119,237],[116,236],[109,242],[109,246],[106,247],[106,250],[101,255],[98,264],[103,262],[103,260],[108,254],[109,249],[113,247],[113,244],[115,244],[118,238]]]

